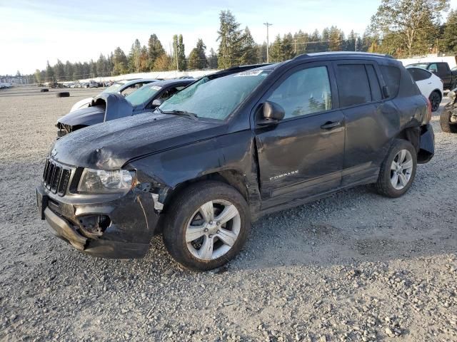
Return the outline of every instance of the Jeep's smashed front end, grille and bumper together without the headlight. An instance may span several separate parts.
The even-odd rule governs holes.
[[[79,191],[84,172],[82,167],[46,160],[43,181],[36,188],[41,219],[82,252],[116,259],[144,257],[162,209],[154,182],[135,177],[126,191],[91,194]]]

